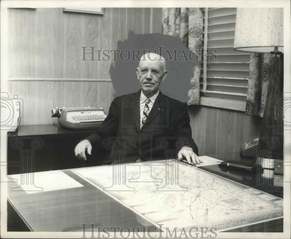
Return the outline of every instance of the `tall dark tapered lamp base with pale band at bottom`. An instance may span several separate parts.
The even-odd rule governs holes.
[[[272,53],[271,76],[267,91],[267,99],[262,119],[257,149],[257,162],[264,169],[263,177],[274,177],[275,161],[283,160],[284,134],[283,134],[283,78],[282,52],[275,49]]]

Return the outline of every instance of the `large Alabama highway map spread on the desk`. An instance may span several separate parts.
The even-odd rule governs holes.
[[[145,226],[224,231],[283,217],[283,199],[176,160],[72,171],[136,212]]]

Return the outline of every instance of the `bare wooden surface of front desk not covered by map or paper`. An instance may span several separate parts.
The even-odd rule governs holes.
[[[187,166],[189,166],[189,169],[192,167],[190,165]],[[221,171],[218,165],[204,166],[203,170],[213,171],[214,166],[217,167],[217,172]],[[23,221],[26,225],[23,230],[82,231],[81,224],[120,228],[124,226],[128,228],[141,228],[145,225],[146,227],[154,226],[149,221],[144,222],[141,220],[134,211],[96,188],[73,171],[61,171],[84,186],[27,194],[25,191],[12,191],[11,188],[15,187],[16,183],[9,183],[8,211],[14,211],[19,215],[19,221]],[[52,171],[53,173],[54,171]],[[8,217],[8,222],[11,219],[11,217]],[[10,230],[15,229],[10,227]],[[159,228],[157,228],[158,230]],[[257,223],[230,231],[283,231],[283,219]]]

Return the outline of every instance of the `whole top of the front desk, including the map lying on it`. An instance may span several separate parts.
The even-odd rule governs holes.
[[[204,167],[211,171],[218,165]],[[18,184],[9,183],[8,201],[32,231],[75,231],[82,229],[82,223],[101,227],[163,224],[169,228],[220,224],[219,229],[226,230],[242,226],[239,220],[246,220],[247,225],[266,215],[283,217],[282,199],[202,168],[167,160],[39,172],[35,186],[44,191],[12,191],[21,184],[19,178]],[[49,173],[58,180],[54,177],[57,172],[75,183],[45,191],[47,180],[41,177]]]

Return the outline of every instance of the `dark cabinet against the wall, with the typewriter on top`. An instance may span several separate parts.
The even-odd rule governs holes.
[[[98,165],[98,162],[93,164],[74,157],[75,145],[95,130],[74,131],[55,127],[53,124],[19,127],[16,133],[7,135],[7,175],[31,172],[32,167],[22,169],[20,167],[22,153],[27,150],[33,154],[34,172]],[[40,143],[42,146],[32,147],[33,140],[37,140],[37,144]],[[20,147],[20,141],[23,143],[23,147]]]

